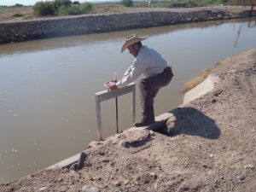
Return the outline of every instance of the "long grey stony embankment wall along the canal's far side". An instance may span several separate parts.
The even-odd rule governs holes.
[[[112,32],[133,28],[172,25],[203,20],[223,20],[249,17],[248,12],[200,10],[187,13],[151,11],[111,15],[82,15],[48,20],[26,20],[0,23],[0,44],[38,38]]]

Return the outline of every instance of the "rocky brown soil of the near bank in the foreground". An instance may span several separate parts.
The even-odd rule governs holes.
[[[211,92],[172,110],[157,132],[132,128],[90,143],[81,169],[46,169],[0,191],[256,189],[256,49],[222,61]]]

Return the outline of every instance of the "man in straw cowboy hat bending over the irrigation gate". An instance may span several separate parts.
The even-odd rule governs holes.
[[[145,76],[145,79],[138,84],[143,117],[134,123],[134,126],[154,123],[154,96],[161,87],[169,84],[173,77],[172,68],[168,66],[168,62],[154,49],[143,46],[141,41],[144,39],[146,38],[139,38],[135,34],[125,39],[121,52],[128,49],[135,59],[131,67],[126,70],[124,77],[109,87],[110,90],[116,90],[131,84],[141,74]]]

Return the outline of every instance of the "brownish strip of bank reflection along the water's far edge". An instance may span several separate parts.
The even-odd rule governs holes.
[[[166,32],[176,32],[180,30],[190,30],[193,28],[207,28],[207,27],[218,27],[223,24],[233,24],[234,31],[237,30],[237,20],[212,20],[207,22],[199,22],[199,23],[186,23],[186,24],[180,24],[180,25],[173,25],[173,26],[167,26],[168,30],[166,31],[166,26],[160,26],[160,27],[151,27],[150,30],[148,28],[146,29],[140,29],[135,31],[142,31],[142,33],[147,36],[154,36],[163,34]],[[247,24],[247,27],[255,27],[256,26],[256,20],[254,18],[251,18],[250,20],[240,20],[239,21],[239,28]],[[134,31],[134,30],[132,30]],[[125,32],[126,33],[126,32]],[[14,53],[23,53],[23,52],[29,52],[29,51],[38,51],[38,50],[44,50],[44,49],[59,49],[63,47],[73,47],[78,45],[84,45],[84,44],[95,44],[95,41],[106,41],[106,40],[112,40],[112,39],[118,39],[123,40],[124,37],[122,36],[124,32],[106,32],[106,33],[96,33],[96,34],[88,34],[88,35],[77,35],[72,37],[65,37],[65,38],[47,38],[47,39],[40,39],[40,40],[34,40],[29,42],[23,42],[21,44],[5,44],[3,45],[3,48],[0,47],[0,55],[7,55],[7,54],[14,54]],[[237,41],[237,39],[235,40]]]

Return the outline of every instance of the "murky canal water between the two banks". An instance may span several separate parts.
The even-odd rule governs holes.
[[[174,79],[154,102],[160,115],[183,102],[185,82],[201,70],[255,47],[255,22],[218,20],[0,45],[0,182],[51,166],[97,139],[94,93],[131,65],[128,51],[120,52],[126,36],[147,37],[143,44],[172,65]],[[114,103],[102,102],[103,137],[115,133]],[[128,94],[119,97],[119,129],[131,124]]]

